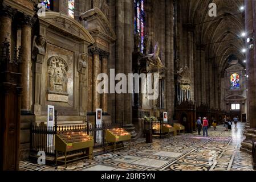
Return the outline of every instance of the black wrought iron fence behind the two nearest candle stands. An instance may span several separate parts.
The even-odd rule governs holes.
[[[56,113],[56,111],[55,111]],[[101,125],[91,125],[87,122],[84,125],[72,125],[72,126],[56,126],[55,116],[55,126],[35,126],[31,124],[30,132],[30,151],[38,152],[44,151],[46,155],[55,156],[54,143],[49,144],[49,141],[55,140],[55,135],[62,132],[74,132],[83,131],[88,135],[94,137],[94,149],[105,147],[105,130],[113,129],[117,127],[122,127],[123,124],[117,123],[102,123]]]

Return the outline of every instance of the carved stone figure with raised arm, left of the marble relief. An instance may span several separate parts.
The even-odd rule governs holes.
[[[46,52],[46,39],[43,36],[34,36],[32,43],[32,59],[43,63],[43,58]]]

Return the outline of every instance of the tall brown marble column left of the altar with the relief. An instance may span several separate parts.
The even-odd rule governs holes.
[[[31,27],[35,20],[24,14],[22,17],[22,114],[32,114],[32,61],[31,61]]]

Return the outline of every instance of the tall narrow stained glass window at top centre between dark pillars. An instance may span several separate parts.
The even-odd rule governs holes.
[[[144,0],[135,0],[135,19],[134,19],[134,27],[135,27],[135,34],[139,34],[141,38],[140,42],[140,51],[143,52],[144,49],[144,35],[145,35],[145,12],[144,12]]]

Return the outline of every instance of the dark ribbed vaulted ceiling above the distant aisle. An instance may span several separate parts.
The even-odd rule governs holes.
[[[206,57],[212,58],[220,72],[227,67],[228,57],[235,55],[243,65],[245,55],[241,50],[245,40],[241,33],[245,30],[242,0],[185,0],[184,22],[196,26],[197,44],[206,45]],[[217,17],[209,16],[209,4],[216,3]]]

